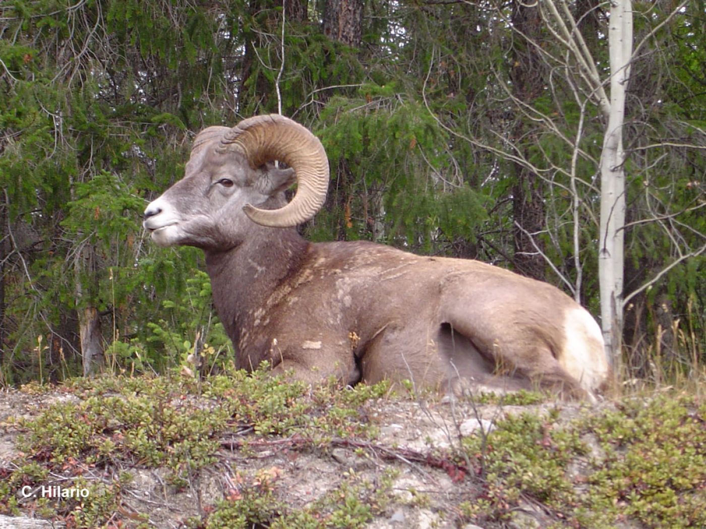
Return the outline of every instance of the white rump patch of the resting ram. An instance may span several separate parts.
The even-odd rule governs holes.
[[[603,334],[596,320],[584,308],[564,315],[564,348],[559,363],[585,389],[597,389],[608,376]]]

